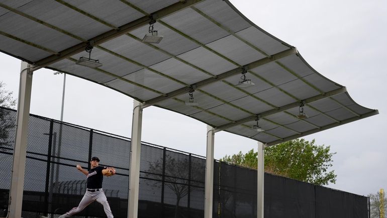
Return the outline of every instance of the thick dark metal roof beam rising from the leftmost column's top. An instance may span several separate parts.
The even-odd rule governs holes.
[[[157,16],[157,20],[158,20],[158,19],[161,19],[167,15],[170,15],[170,14],[175,13],[177,11],[183,10],[185,8],[188,8],[188,7],[195,5],[195,4],[202,2],[202,1],[203,0],[186,0],[184,2],[177,2],[173,5],[170,5],[166,8],[160,9],[159,11],[153,13],[153,15],[155,15],[153,17]],[[147,25],[147,24],[149,24],[149,22],[152,19],[153,18],[151,18],[149,16],[144,16],[144,17],[139,18],[135,21],[132,21],[130,23],[122,25],[122,26],[118,27],[118,29],[113,29],[113,30],[110,30],[110,31],[105,32],[103,34],[100,34],[98,36],[95,36],[93,38],[90,38],[90,39],[88,39],[88,41],[93,41],[94,45],[99,45],[99,44],[104,43],[108,40],[111,40],[111,39],[117,38],[121,35],[124,35],[127,32],[130,32],[130,31],[137,29],[141,26]],[[87,46],[87,44],[88,44],[88,42],[81,42],[79,44],[76,44],[74,46],[71,46],[67,49],[64,49],[64,50],[58,52],[59,54],[57,54],[57,55],[50,55],[46,58],[38,60],[34,63],[35,67],[33,68],[33,70],[43,68],[43,67],[48,66],[52,63],[55,63],[59,60],[70,57],[71,55],[79,53],[79,52],[84,50],[84,48]]]

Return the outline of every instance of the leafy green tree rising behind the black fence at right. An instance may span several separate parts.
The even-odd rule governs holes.
[[[336,182],[332,167],[330,146],[318,146],[315,140],[294,139],[265,149],[265,172],[284,176],[316,185]],[[257,169],[257,152],[225,156],[221,161]]]

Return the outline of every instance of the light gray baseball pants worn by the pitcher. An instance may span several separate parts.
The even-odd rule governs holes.
[[[113,218],[112,210],[110,209],[106,195],[102,189],[100,191],[86,191],[84,193],[82,200],[79,202],[77,207],[72,208],[70,211],[65,213],[65,217],[70,217],[80,211],[82,211],[87,205],[91,202],[96,201],[104,206],[104,210],[108,218]]]

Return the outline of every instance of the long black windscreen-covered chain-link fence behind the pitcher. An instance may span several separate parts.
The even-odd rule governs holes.
[[[8,209],[16,111],[0,107],[0,217]],[[23,217],[57,217],[77,206],[90,158],[117,169],[103,188],[115,217],[127,217],[130,139],[35,115],[30,116]],[[215,161],[214,218],[257,216],[257,172]],[[138,216],[204,217],[204,157],[142,143]],[[265,174],[264,217],[366,218],[368,198]],[[91,203],[76,217],[106,217]]]

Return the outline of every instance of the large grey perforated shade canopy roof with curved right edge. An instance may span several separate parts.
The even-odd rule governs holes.
[[[378,113],[227,0],[9,0],[0,3],[0,17],[0,50],[35,69],[65,72],[268,145]],[[152,20],[159,44],[142,42]],[[75,64],[88,57],[89,43],[103,66]],[[255,85],[237,86],[244,79]],[[199,105],[185,105],[190,91]],[[254,129],[257,122],[264,131]]]

